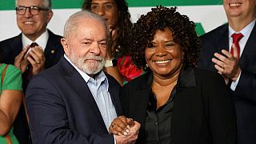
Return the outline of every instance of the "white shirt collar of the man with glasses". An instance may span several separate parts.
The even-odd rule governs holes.
[[[42,33],[34,42],[37,42],[39,46],[42,47],[42,50],[44,51],[46,49],[46,45],[49,38],[49,32],[46,30],[44,33]],[[25,34],[22,33],[22,46],[23,48],[27,45],[30,45],[33,41],[30,40],[30,38],[27,38]]]

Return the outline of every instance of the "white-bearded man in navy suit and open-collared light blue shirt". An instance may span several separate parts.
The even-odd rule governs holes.
[[[110,32],[101,16],[86,10],[70,16],[62,38],[64,57],[37,74],[26,90],[34,143],[119,144],[137,138],[138,122],[127,136],[108,132],[122,113],[121,86],[102,70],[109,44]]]

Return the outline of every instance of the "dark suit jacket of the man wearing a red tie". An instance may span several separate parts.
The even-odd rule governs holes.
[[[202,35],[202,50],[198,67],[217,72],[214,68],[214,53],[229,50],[228,25]],[[256,25],[254,26],[239,60],[242,74],[238,86],[232,92],[237,114],[238,144],[256,143]]]

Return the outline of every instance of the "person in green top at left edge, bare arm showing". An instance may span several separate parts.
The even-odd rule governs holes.
[[[0,51],[0,58],[2,51]],[[0,63],[0,143],[18,144],[13,133],[14,119],[22,103],[22,73],[13,65]]]

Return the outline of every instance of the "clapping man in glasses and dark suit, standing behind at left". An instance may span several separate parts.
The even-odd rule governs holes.
[[[62,37],[46,28],[53,16],[51,0],[16,0],[15,10],[18,28],[22,33],[0,42],[0,48],[3,62],[14,64],[22,70],[22,87],[25,91],[32,75],[54,66],[64,51],[60,42]],[[38,46],[30,48],[32,42]],[[29,143],[29,128],[23,105],[14,122],[14,134],[20,143]]]

